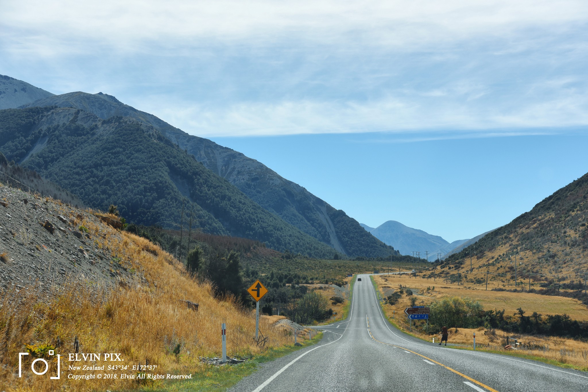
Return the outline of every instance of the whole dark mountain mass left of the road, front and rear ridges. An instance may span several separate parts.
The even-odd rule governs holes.
[[[16,81],[16,79],[12,78],[11,80]],[[27,88],[27,90],[31,89]],[[14,90],[12,93],[15,94]],[[196,208],[199,215],[196,225],[209,230],[211,233],[249,237],[267,242],[268,246],[274,246],[278,250],[290,249],[304,254],[308,253],[302,246],[302,244],[308,243],[308,239],[302,240],[305,236],[312,237],[312,239],[318,240],[337,252],[348,256],[377,257],[397,254],[392,247],[386,246],[376,237],[363,230],[355,219],[346,215],[342,210],[333,208],[302,186],[284,179],[262,163],[250,159],[242,153],[220,146],[211,140],[188,135],[188,133],[169,125],[156,116],[123,104],[111,95],[84,92],[62,95],[51,95],[51,93],[45,92],[44,95],[44,97],[34,102],[23,103],[21,108],[18,109],[19,111],[17,110],[16,112],[11,112],[10,115],[4,116],[5,122],[0,123],[0,132],[2,133],[0,149],[8,159],[14,159],[23,166],[34,169],[42,175],[49,176],[49,179],[54,180],[60,186],[76,193],[89,206],[104,208],[108,206],[108,203],[118,203],[121,205],[121,212],[128,213],[129,219],[132,219],[133,222],[173,226],[177,225],[180,220],[179,216],[177,216],[178,214],[171,213],[171,215],[165,217],[161,213],[154,212],[153,209],[158,208],[156,206],[163,199],[166,200],[164,203],[166,207],[163,207],[162,210],[168,210],[168,206],[171,206],[172,199],[175,197],[171,195],[181,195],[193,203],[194,206],[201,207]],[[15,99],[12,99],[12,101],[17,102]],[[6,102],[10,101],[6,100]],[[35,111],[33,109],[41,107],[48,108],[48,110]],[[57,110],[57,108],[73,108],[75,110]],[[14,126],[19,129],[26,128],[21,129],[17,136],[17,133],[9,130],[11,125],[7,122],[14,121],[19,117],[22,117],[21,120],[23,121],[34,122],[34,125],[13,124],[13,128]],[[72,128],[76,127],[82,127],[84,130],[72,130]],[[133,129],[132,132],[129,130],[131,128]],[[82,137],[79,132],[87,132],[88,135]],[[131,132],[133,136],[141,139],[141,142],[133,144],[129,140],[122,140],[121,138],[129,136],[125,132]],[[92,136],[98,135],[102,139],[92,139]],[[106,135],[112,135],[113,139],[103,139]],[[74,167],[75,162],[71,161],[71,158],[62,148],[64,145],[55,142],[58,139],[62,139],[62,142],[68,145],[70,149],[74,149],[75,153],[73,155],[78,155],[82,162],[84,162],[84,159],[79,156],[80,149],[85,150],[84,154],[90,153],[88,159],[85,160],[93,161],[95,166],[85,167],[85,170],[82,169],[84,165],[78,164],[79,167]],[[89,144],[86,145],[86,143]],[[108,143],[111,144],[109,145]],[[165,148],[162,146],[158,148],[163,148],[169,156],[157,155],[157,158],[151,161],[152,166],[141,166],[140,175],[131,175],[129,177],[129,188],[132,188],[133,191],[131,192],[131,189],[127,189],[129,192],[126,195],[133,195],[138,199],[130,200],[128,197],[123,197],[122,190],[111,190],[108,195],[102,195],[98,192],[103,186],[118,186],[118,183],[113,180],[115,177],[111,177],[106,173],[103,174],[102,180],[104,183],[96,183],[96,173],[105,171],[105,167],[100,166],[108,163],[109,170],[113,172],[117,170],[125,172],[126,170],[127,172],[135,173],[136,169],[133,170],[133,166],[125,167],[125,165],[131,163],[129,162],[130,156],[137,160],[135,163],[141,162],[141,153],[136,152],[151,152],[153,146],[149,145],[149,143],[165,145]],[[48,145],[51,146],[50,149],[46,148]],[[55,156],[57,151],[66,155]],[[219,180],[222,177],[224,181],[231,185],[231,187],[225,187],[226,192],[232,195],[239,193],[245,196],[239,196],[237,199],[242,203],[245,203],[243,200],[253,202],[253,204],[261,207],[259,211],[264,211],[263,216],[268,219],[269,216],[273,216],[277,219],[275,222],[269,219],[273,222],[269,226],[290,227],[290,229],[295,229],[296,232],[304,234],[303,237],[295,240],[294,243],[286,245],[288,240],[276,237],[283,236],[283,233],[276,233],[276,236],[272,237],[269,234],[271,231],[269,228],[260,229],[258,227],[252,230],[252,227],[249,227],[247,229],[242,226],[243,219],[240,223],[236,223],[233,220],[235,216],[216,216],[219,213],[216,210],[219,203],[213,202],[212,204],[209,203],[208,206],[204,206],[206,203],[203,200],[209,199],[208,196],[201,194],[195,199],[195,196],[192,195],[195,192],[192,183],[196,179],[194,172],[191,172],[191,170],[195,170],[194,167],[189,167],[187,171],[182,172],[177,166],[171,165],[173,166],[172,169],[169,162],[165,163],[165,167],[156,165],[157,159],[160,159],[158,163],[162,163],[166,158],[169,160],[172,159],[172,156],[179,157],[182,154],[192,157],[195,162],[201,163],[203,169],[208,170],[208,172],[206,170],[203,172],[200,170],[202,173],[199,172],[200,175],[206,172],[206,176],[209,176],[207,181],[210,180],[215,184],[220,184],[222,182],[219,182]],[[51,157],[48,155],[51,155]],[[118,158],[117,162],[117,157],[121,157],[121,155],[125,159]],[[176,158],[180,160],[185,159],[184,157],[178,157]],[[109,159],[113,159],[112,163]],[[182,173],[178,173],[178,170]],[[164,176],[163,174],[166,171],[168,175]],[[192,178],[186,178],[189,173],[192,173]],[[108,179],[111,179],[111,181]],[[122,178],[118,179],[122,180]],[[163,189],[152,189],[153,195],[151,197],[147,196],[145,191],[149,186],[153,188],[154,185],[145,183],[145,179],[156,179],[158,185],[166,184],[164,186],[165,192],[163,192]],[[85,185],[90,184],[92,184],[91,187],[85,187]],[[199,185],[204,186],[204,190],[200,191],[201,193],[209,190],[206,187],[207,183],[200,183]],[[134,189],[143,189],[143,191],[134,192]],[[238,190],[238,193],[235,192],[236,190]],[[163,193],[159,195],[158,192]],[[226,197],[223,199],[222,192],[215,197],[219,198],[216,200],[217,202],[229,203]],[[232,201],[237,199],[232,199]],[[148,202],[145,203],[145,200],[148,200]],[[247,204],[249,206],[249,203]],[[178,209],[178,206],[173,208],[178,211],[181,210],[181,207]],[[239,207],[235,206],[233,210],[237,211]],[[255,220],[259,217],[259,211],[255,211],[249,217],[250,219]],[[205,212],[208,212],[208,215]],[[269,215],[265,213],[269,213]],[[265,220],[265,222],[268,223],[269,220]],[[233,225],[235,223],[236,226]],[[236,229],[236,227],[239,227],[239,229]],[[292,232],[290,229],[286,231]],[[318,249],[316,246],[315,248]],[[325,253],[322,250],[319,253],[326,255],[329,252]],[[330,254],[332,253],[330,252]]]

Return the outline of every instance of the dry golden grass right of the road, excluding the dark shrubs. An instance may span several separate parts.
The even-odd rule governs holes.
[[[391,290],[397,290],[399,284],[402,284],[402,287],[409,287],[410,289],[422,290],[422,292],[420,292],[422,294],[416,295],[417,305],[428,305],[433,300],[441,299],[443,297],[462,296],[479,300],[480,303],[483,304],[485,309],[494,309],[494,307],[488,305],[489,303],[505,305],[507,304],[507,307],[501,306],[497,307],[497,309],[507,309],[507,314],[513,314],[515,313],[516,308],[512,309],[512,312],[509,312],[508,309],[512,308],[513,306],[519,307],[519,305],[517,304],[521,304],[523,302],[517,301],[517,296],[521,296],[522,298],[524,298],[524,303],[529,305],[529,310],[527,310],[527,308],[523,306],[523,310],[526,310],[527,313],[537,311],[538,313],[543,314],[562,314],[564,312],[562,310],[557,309],[557,302],[545,304],[542,303],[542,300],[545,298],[559,299],[561,301],[560,304],[567,306],[569,306],[569,301],[576,301],[569,299],[567,297],[547,297],[540,296],[539,294],[529,293],[506,293],[490,291],[486,292],[482,290],[463,289],[462,286],[457,287],[446,284],[437,286],[436,284],[429,282],[428,279],[415,279],[409,278],[407,276],[387,277],[380,275],[374,276],[374,280],[378,285],[380,293],[382,293],[383,295],[386,295],[386,292],[391,293]],[[426,288],[433,286],[435,286],[435,291],[432,292],[430,290],[429,293],[427,293]],[[513,295],[505,296],[504,294]],[[409,331],[409,321],[403,313],[405,308],[408,306],[410,306],[410,296],[403,295],[395,305],[384,304],[382,308],[386,316],[388,316],[398,327],[400,327],[400,329]],[[396,313],[393,313],[393,311],[395,311]],[[588,312],[586,311],[586,307],[584,306],[584,309],[578,309],[576,314],[583,314],[584,316],[586,316],[586,313]],[[417,321],[417,323],[419,323],[419,325],[424,324],[424,321]],[[508,334],[501,330],[487,331],[483,327],[479,327],[477,329],[458,329],[457,333],[455,329],[452,328],[449,330],[449,343],[463,344],[464,346],[473,346],[474,332],[476,332],[476,346],[479,349],[496,351],[505,351],[504,347],[506,345],[506,337],[513,336],[512,333]],[[440,341],[441,339],[440,335],[427,335],[424,333],[420,333],[414,328],[412,329],[412,334],[429,341],[432,340],[433,337],[435,337],[435,341]],[[573,339],[565,339],[560,337],[539,336],[520,336],[519,342],[523,343],[522,346],[519,346],[519,350],[517,350],[517,352],[519,353],[559,361],[560,363],[570,364],[578,368],[588,367],[588,342]]]

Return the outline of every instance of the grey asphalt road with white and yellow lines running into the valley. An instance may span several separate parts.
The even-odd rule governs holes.
[[[455,350],[388,323],[368,275],[346,321],[314,346],[264,364],[233,391],[588,391],[588,373],[515,357]]]

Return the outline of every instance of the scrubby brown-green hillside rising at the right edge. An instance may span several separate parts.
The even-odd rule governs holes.
[[[505,284],[512,284],[516,273],[524,286],[530,281],[583,283],[588,274],[587,197],[588,174],[546,197],[508,225],[447,257],[442,270],[447,268],[447,275],[457,270],[466,279],[481,279],[489,271],[490,280]],[[470,254],[473,273],[469,273]]]

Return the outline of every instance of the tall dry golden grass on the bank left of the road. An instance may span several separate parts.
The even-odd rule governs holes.
[[[83,353],[122,353],[123,364],[129,365],[144,364],[148,359],[149,364],[158,366],[155,373],[162,374],[206,371],[208,366],[198,357],[220,355],[221,323],[226,323],[228,354],[250,356],[263,351],[253,342],[255,317],[240,309],[234,298],[215,299],[211,284],[196,283],[181,263],[146,239],[95,223],[89,216],[82,216],[78,223],[88,227],[95,239],[93,246],[119,257],[136,277],[115,290],[90,282],[68,284],[55,288],[54,296],[48,299],[3,292],[0,334],[5,341],[0,362],[5,367],[0,367],[0,390],[85,391],[139,385],[104,378],[72,381],[64,377],[68,372],[51,383],[45,377],[31,377],[30,371],[18,378],[18,353],[24,351],[24,344],[55,345],[58,338],[62,346],[56,348],[56,354],[74,352],[72,343],[78,336]],[[199,311],[188,309],[180,300],[199,303]],[[272,323],[260,320],[260,330],[269,336],[269,345],[291,344],[291,337],[270,327]],[[182,347],[179,356],[171,352],[177,343]],[[68,361],[62,360],[62,370],[67,365]],[[129,368],[126,373],[136,371]]]

